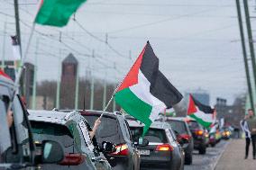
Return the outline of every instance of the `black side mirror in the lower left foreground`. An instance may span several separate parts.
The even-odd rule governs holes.
[[[41,163],[56,164],[64,158],[64,151],[56,141],[44,140],[41,143]]]

